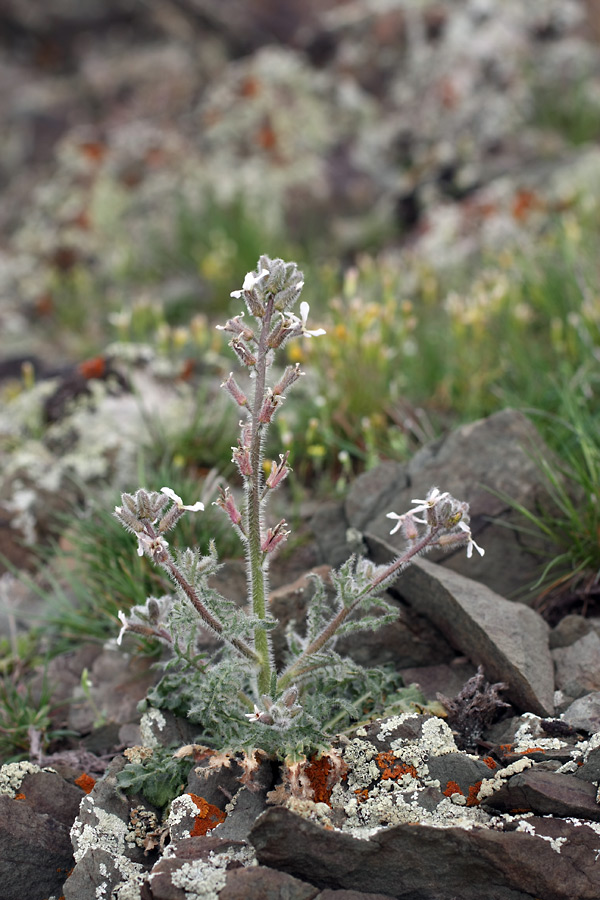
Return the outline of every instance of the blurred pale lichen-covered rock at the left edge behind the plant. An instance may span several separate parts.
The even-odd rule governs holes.
[[[150,421],[173,434],[192,416],[195,399],[186,386],[168,385],[143,368],[130,377],[135,393],[115,393],[110,383],[90,380],[90,397],[79,398],[47,427],[43,404],[55,380],[0,411],[0,539],[10,559],[23,562],[23,545],[47,540],[58,515],[82,503],[85,486],[112,484],[117,491],[131,484],[139,448],[150,440]]]

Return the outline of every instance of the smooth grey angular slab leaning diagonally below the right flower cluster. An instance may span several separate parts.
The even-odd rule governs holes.
[[[389,548],[382,542],[378,548],[378,561],[389,560]],[[457,650],[483,666],[488,679],[505,682],[506,696],[515,707],[542,716],[553,714],[548,626],[538,613],[425,559],[404,571],[396,589]]]

